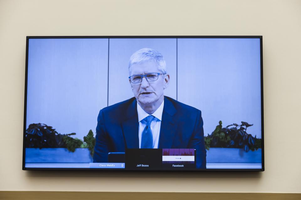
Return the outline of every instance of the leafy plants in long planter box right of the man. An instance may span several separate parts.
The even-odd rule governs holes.
[[[247,133],[247,122],[222,127],[204,137],[207,163],[261,163],[261,139]],[[251,151],[250,151],[251,150]]]

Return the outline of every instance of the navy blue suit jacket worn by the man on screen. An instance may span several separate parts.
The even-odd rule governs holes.
[[[109,152],[139,148],[135,97],[100,110],[97,118],[94,163],[108,162]],[[158,148],[196,149],[196,167],[206,168],[201,111],[164,96]]]

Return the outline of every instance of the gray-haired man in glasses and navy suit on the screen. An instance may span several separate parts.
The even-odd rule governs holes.
[[[170,75],[161,53],[143,48],[129,60],[134,97],[100,110],[94,163],[125,148],[194,148],[196,167],[206,168],[201,111],[164,96]]]

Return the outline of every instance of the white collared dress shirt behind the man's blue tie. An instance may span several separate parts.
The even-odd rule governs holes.
[[[164,100],[159,106],[159,108],[152,113],[151,115],[155,118],[150,123],[151,133],[153,134],[153,149],[157,149],[159,145],[159,136],[160,136],[160,128],[161,128],[161,120],[162,120],[162,113],[164,107]],[[138,104],[137,102],[137,112],[138,112],[138,121],[139,121],[139,148],[141,148],[141,139],[142,139],[142,132],[146,126],[146,117],[149,116]]]

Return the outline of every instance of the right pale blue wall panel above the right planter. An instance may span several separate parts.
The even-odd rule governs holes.
[[[178,101],[202,111],[204,133],[241,121],[261,138],[259,39],[178,39]]]

